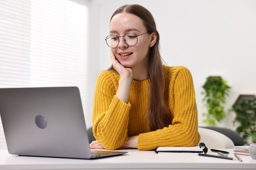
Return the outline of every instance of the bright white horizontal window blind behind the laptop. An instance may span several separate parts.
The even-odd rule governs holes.
[[[87,1],[1,0],[0,7],[0,88],[77,86],[86,103]]]

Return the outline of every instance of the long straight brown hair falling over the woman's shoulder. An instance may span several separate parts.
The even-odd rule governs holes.
[[[160,56],[160,35],[156,29],[156,22],[152,14],[141,5],[123,5],[117,9],[112,18],[119,13],[127,12],[138,16],[148,33],[157,34],[156,44],[150,48],[148,59],[148,75],[150,78],[150,105],[148,107],[148,122],[150,129],[156,130],[171,124],[171,110],[169,109],[169,79],[164,76],[163,63]],[[112,67],[110,69],[113,69]]]

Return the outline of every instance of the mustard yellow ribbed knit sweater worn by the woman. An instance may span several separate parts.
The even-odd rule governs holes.
[[[158,146],[196,146],[200,142],[194,84],[186,67],[164,66],[169,75],[169,108],[173,114],[169,127],[150,131],[148,99],[150,80],[131,83],[129,103],[116,97],[119,74],[103,71],[98,76],[93,106],[93,133],[108,150],[123,146],[128,137],[139,135],[138,149]]]

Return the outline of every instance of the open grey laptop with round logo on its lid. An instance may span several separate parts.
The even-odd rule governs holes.
[[[0,88],[10,154],[93,159],[127,152],[90,150],[79,89]]]

